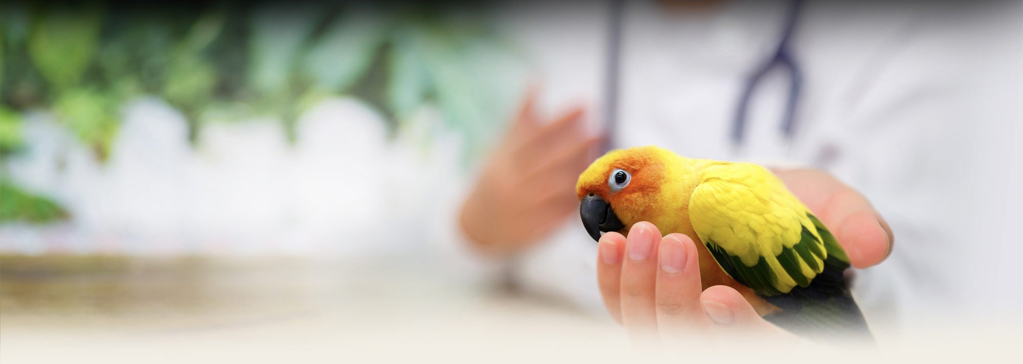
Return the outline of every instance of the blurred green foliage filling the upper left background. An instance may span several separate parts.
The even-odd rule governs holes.
[[[33,109],[52,111],[104,161],[117,152],[122,107],[143,95],[180,110],[193,143],[208,123],[255,116],[277,117],[301,142],[296,120],[330,95],[366,101],[392,134],[431,103],[470,153],[509,108],[494,60],[519,57],[476,13],[387,1],[136,6],[0,3],[0,198],[14,209],[0,222],[63,216],[6,175],[6,161],[32,147],[20,125]]]

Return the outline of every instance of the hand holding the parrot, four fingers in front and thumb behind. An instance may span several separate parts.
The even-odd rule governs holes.
[[[820,171],[774,172],[831,229],[853,266],[874,266],[888,257],[891,229],[862,195]],[[601,237],[597,279],[608,312],[633,340],[695,333],[792,336],[761,318],[736,289],[715,285],[704,290],[699,253],[688,236],[662,238],[648,222],[636,223],[628,234]]]

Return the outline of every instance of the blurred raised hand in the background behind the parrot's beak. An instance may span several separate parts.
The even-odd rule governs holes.
[[[576,181],[595,157],[598,138],[586,134],[582,107],[543,122],[535,100],[530,91],[462,206],[461,228],[486,253],[521,252],[579,210]]]

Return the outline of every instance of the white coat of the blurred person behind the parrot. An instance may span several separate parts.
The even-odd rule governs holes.
[[[1019,135],[1008,130],[1021,113],[1006,94],[1017,95],[1015,102],[1021,95],[1023,52],[1013,25],[1023,8],[807,2],[793,39],[804,73],[796,136],[788,143],[780,131],[788,86],[775,73],[755,91],[747,142],[737,153],[728,136],[739,93],[745,76],[776,46],[785,7],[727,2],[678,13],[629,3],[616,146],[788,161],[828,170],[857,188],[895,233],[893,255],[854,281],[876,328],[926,322],[949,309],[974,312],[990,302],[1018,317],[1019,290],[991,288],[1014,282],[997,271],[1011,265],[1012,252],[1021,253],[1003,227],[1023,216],[999,206],[1007,197],[1019,201],[1020,192],[1008,182],[978,185],[977,176],[1020,177],[1015,169],[989,167],[1019,154],[1018,147],[994,145],[1011,146]],[[562,3],[504,9],[502,25],[535,60],[548,111],[577,101],[599,109],[605,11]],[[573,216],[515,262],[513,277],[527,289],[603,313],[595,254]]]

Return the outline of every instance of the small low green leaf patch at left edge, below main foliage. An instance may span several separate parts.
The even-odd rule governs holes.
[[[0,223],[33,224],[66,220],[68,212],[45,196],[30,193],[10,181],[0,180]]]

